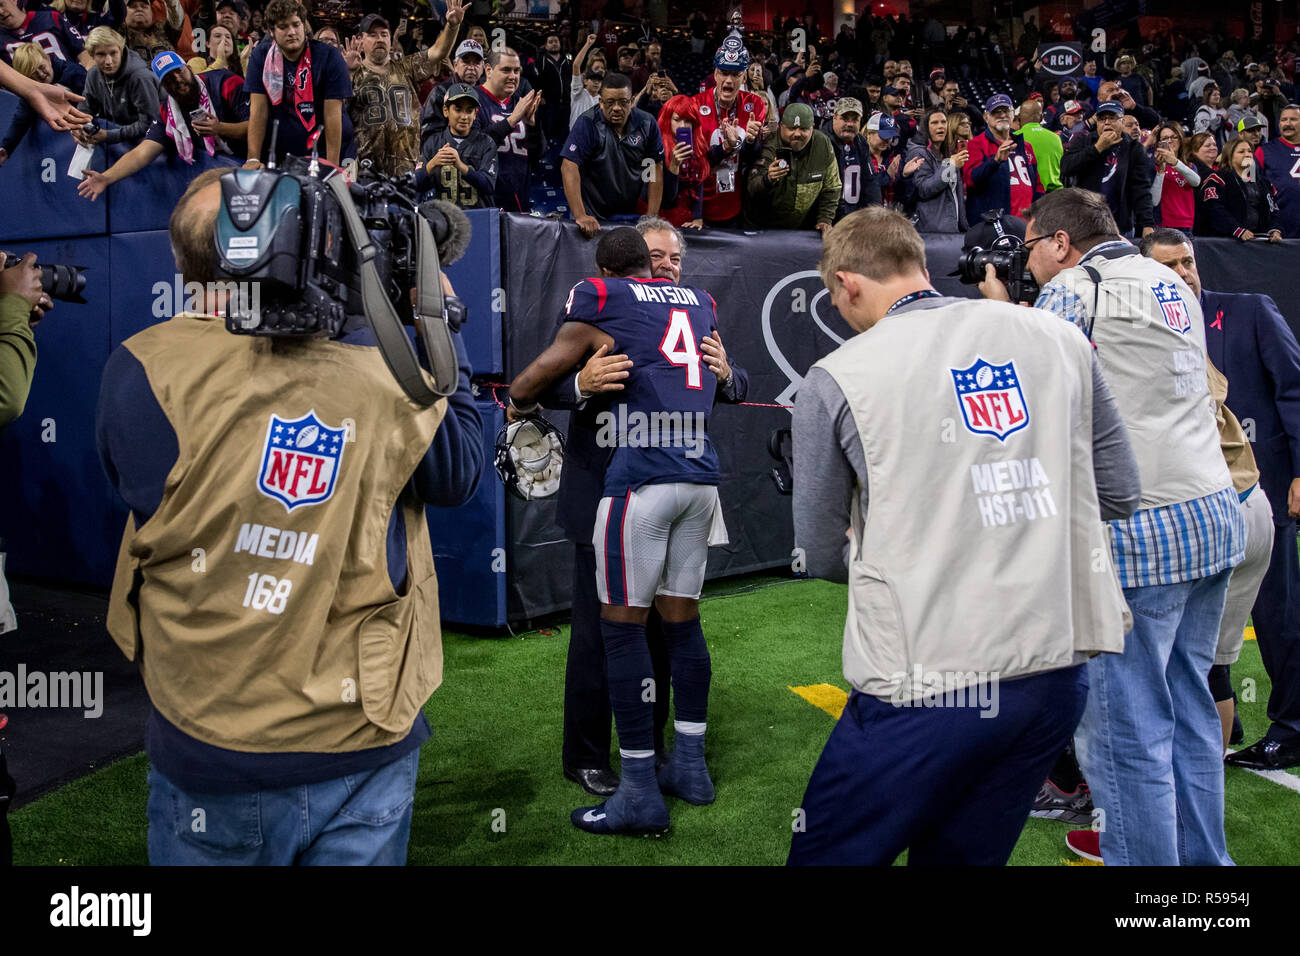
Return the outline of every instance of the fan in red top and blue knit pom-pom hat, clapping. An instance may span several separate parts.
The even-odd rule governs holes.
[[[697,94],[699,130],[708,142],[712,176],[705,182],[705,222],[731,226],[740,217],[741,168],[763,152],[767,100],[741,90],[749,51],[736,34],[714,55],[714,87]]]

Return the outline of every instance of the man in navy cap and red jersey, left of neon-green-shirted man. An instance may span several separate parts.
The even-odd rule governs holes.
[[[967,143],[970,156],[962,166],[966,219],[975,222],[989,209],[1004,209],[1023,219],[1024,211],[1043,195],[1034,147],[1011,131],[1010,96],[989,96],[984,121],[988,129]]]

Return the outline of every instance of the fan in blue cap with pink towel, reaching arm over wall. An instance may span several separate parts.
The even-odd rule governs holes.
[[[159,118],[134,150],[103,173],[86,170],[77,191],[91,202],[112,183],[139,172],[164,152],[191,164],[200,152],[213,159],[243,159],[248,99],[239,77],[229,70],[195,75],[174,49],[155,56],[152,66],[162,87]]]

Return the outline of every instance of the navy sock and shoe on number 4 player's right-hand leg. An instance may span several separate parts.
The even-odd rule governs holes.
[[[676,740],[672,757],[659,767],[659,787],[688,804],[714,801],[714,782],[705,765],[705,721],[708,715],[708,682],[712,665],[699,618],[663,622],[672,667],[672,705]]]

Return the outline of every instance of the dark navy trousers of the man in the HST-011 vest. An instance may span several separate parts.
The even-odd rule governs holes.
[[[1079,723],[1082,665],[997,684],[996,711],[854,691],[812,770],[790,866],[1002,866]],[[989,715],[996,713],[996,715]]]

